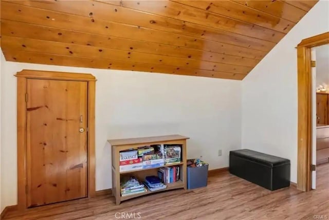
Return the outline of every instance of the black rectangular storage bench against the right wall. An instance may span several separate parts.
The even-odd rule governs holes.
[[[230,151],[230,173],[269,190],[290,186],[290,161],[253,150]]]

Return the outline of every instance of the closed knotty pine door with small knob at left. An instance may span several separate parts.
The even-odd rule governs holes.
[[[86,197],[87,82],[27,79],[26,112],[27,206]]]

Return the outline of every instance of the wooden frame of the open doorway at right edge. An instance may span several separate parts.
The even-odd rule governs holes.
[[[297,189],[312,189],[312,72],[311,48],[329,44],[329,32],[303,39],[297,46],[298,157]]]

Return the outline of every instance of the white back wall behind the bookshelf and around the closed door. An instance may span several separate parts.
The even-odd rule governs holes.
[[[3,207],[16,204],[16,78],[22,69],[92,73],[96,83],[96,190],[111,188],[110,138],[181,134],[188,157],[228,166],[241,146],[241,81],[5,62],[2,72]],[[223,156],[218,157],[218,149]]]

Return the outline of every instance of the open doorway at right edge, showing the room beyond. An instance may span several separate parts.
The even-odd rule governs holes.
[[[312,57],[312,164],[329,164],[329,44],[313,47]],[[320,183],[321,169],[312,172],[312,189]]]

